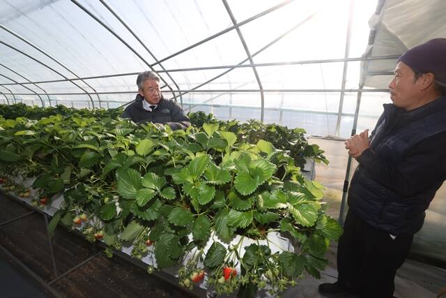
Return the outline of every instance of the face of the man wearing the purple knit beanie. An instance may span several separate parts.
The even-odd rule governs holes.
[[[415,80],[413,70],[399,62],[394,70],[394,77],[389,84],[390,99],[396,107],[402,107],[406,111],[420,107],[420,86],[422,78]]]

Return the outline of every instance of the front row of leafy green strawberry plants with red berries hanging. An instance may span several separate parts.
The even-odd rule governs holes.
[[[132,256],[153,251],[158,269],[183,264],[186,288],[206,275],[219,293],[277,294],[305,271],[318,277],[341,232],[325,214],[323,187],[302,177],[287,151],[240,141],[218,123],[171,131],[77,114],[0,119],[0,148],[3,189],[22,176],[35,178],[37,204],[63,194],[52,229],[82,227],[108,253],[132,243]],[[270,232],[286,234],[295,251],[273,252]],[[241,247],[237,235],[256,242]]]

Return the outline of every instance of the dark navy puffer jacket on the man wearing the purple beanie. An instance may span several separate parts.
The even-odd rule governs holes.
[[[384,105],[358,165],[348,204],[379,230],[412,235],[446,179],[446,97],[412,111]]]

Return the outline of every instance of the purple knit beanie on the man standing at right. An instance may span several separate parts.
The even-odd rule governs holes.
[[[417,45],[402,54],[398,61],[418,73],[433,73],[435,80],[446,86],[446,38],[433,38]]]

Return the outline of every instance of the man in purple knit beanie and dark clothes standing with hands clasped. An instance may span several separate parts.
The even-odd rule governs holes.
[[[358,166],[337,250],[336,283],[325,297],[394,297],[403,265],[426,209],[446,180],[446,38],[404,53],[389,84],[392,104],[372,131],[348,139]]]

